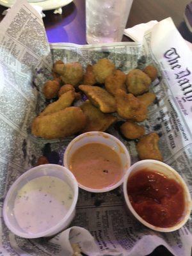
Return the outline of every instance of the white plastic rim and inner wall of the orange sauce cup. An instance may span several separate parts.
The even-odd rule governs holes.
[[[77,149],[83,147],[84,145],[88,145],[90,143],[101,143],[108,146],[109,148],[113,148],[116,154],[118,154],[118,156],[120,157],[120,160],[123,166],[123,175],[122,175],[122,178],[112,186],[108,186],[100,189],[84,186],[83,184],[79,183],[77,180],[79,184],[79,188],[89,192],[93,192],[93,193],[103,193],[103,192],[108,192],[115,188],[118,188],[118,186],[120,186],[124,182],[124,175],[127,173],[127,170],[131,165],[131,159],[125,145],[120,140],[118,140],[115,136],[108,134],[106,132],[85,132],[77,136],[76,138],[74,138],[74,140],[72,140],[68,144],[65,150],[64,161],[63,161],[65,167],[67,167],[68,169],[70,168],[70,158],[72,157],[74,152],[76,152]]]

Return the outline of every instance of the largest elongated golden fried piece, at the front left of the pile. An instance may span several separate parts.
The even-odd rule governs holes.
[[[81,131],[86,124],[86,116],[81,108],[70,107],[33,120],[31,132],[45,139],[60,139]]]

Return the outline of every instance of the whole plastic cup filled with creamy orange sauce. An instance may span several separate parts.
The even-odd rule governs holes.
[[[124,182],[131,160],[125,145],[111,134],[85,132],[68,144],[64,165],[76,177],[79,188],[102,193]]]

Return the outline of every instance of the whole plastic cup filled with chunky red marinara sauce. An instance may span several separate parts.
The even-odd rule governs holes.
[[[160,161],[133,164],[125,175],[124,197],[133,216],[159,232],[181,228],[190,216],[188,186],[178,172]]]

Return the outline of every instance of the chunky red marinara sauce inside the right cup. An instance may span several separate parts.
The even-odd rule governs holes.
[[[184,189],[175,180],[157,171],[142,169],[127,182],[134,210],[156,227],[173,227],[184,214]]]

